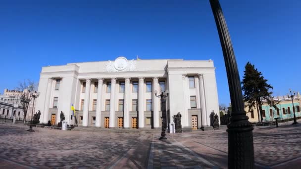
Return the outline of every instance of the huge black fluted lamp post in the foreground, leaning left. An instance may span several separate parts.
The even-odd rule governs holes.
[[[253,127],[246,116],[242,86],[230,34],[218,0],[209,0],[223,50],[232,113],[228,124],[228,169],[253,169]]]

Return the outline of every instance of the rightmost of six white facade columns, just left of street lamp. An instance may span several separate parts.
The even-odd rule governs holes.
[[[158,89],[158,77],[152,77],[152,107],[153,107],[153,127],[160,127],[159,117],[159,98],[154,95],[154,91],[160,92]],[[160,94],[160,93],[159,93]]]

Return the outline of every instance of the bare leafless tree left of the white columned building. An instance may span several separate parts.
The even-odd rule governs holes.
[[[22,105],[22,109],[24,112],[24,119],[23,119],[24,124],[25,124],[25,119],[26,119],[29,103],[33,98],[31,92],[36,90],[36,86],[37,85],[33,81],[24,80],[23,82],[19,83],[18,87],[16,87],[16,89],[18,91],[21,91],[20,100],[21,100],[21,105]]]

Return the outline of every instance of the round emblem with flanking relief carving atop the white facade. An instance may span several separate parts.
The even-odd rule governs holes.
[[[126,72],[136,70],[136,60],[128,61],[125,57],[120,56],[115,61],[110,61],[106,64],[105,70],[107,72]]]

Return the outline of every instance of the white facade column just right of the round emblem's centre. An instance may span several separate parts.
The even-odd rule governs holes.
[[[124,86],[124,112],[123,112],[123,127],[130,128],[130,80],[131,78],[125,78]]]

